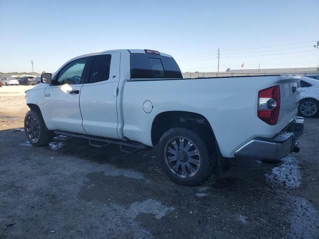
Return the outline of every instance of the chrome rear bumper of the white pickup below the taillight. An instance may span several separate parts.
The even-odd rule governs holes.
[[[291,152],[299,152],[298,143],[304,132],[304,118],[295,119],[273,138],[257,137],[235,152],[236,158],[277,161]]]

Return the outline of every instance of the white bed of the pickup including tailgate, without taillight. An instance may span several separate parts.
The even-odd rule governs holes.
[[[133,79],[123,94],[123,134],[131,140],[152,145],[153,119],[163,111],[194,112],[210,123],[224,157],[254,137],[273,137],[297,115],[298,76],[234,76],[186,79]],[[278,123],[269,125],[257,117],[258,92],[280,86]],[[150,114],[143,104],[152,102]],[[169,119],[167,119],[169,120]]]

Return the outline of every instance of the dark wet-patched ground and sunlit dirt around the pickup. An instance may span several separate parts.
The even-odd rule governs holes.
[[[319,118],[281,165],[236,160],[184,187],[153,151],[83,139],[33,147],[23,86],[0,88],[0,239],[319,238]]]

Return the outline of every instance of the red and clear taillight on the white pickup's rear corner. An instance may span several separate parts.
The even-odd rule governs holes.
[[[258,93],[258,117],[268,124],[278,121],[280,110],[280,88],[273,86]]]

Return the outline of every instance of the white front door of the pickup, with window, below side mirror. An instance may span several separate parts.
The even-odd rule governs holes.
[[[44,92],[44,119],[48,129],[85,133],[79,106],[87,57],[66,64]]]

